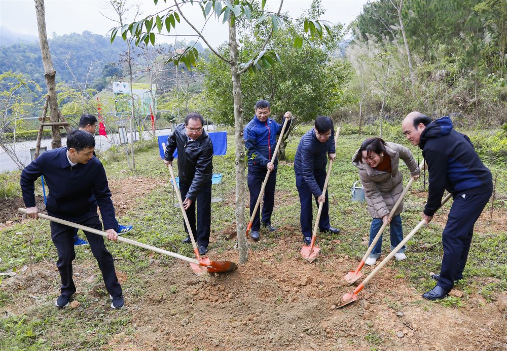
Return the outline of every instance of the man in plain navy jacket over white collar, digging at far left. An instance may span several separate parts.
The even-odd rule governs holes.
[[[39,218],[35,206],[34,182],[44,175],[49,188],[46,210],[53,217],[65,219],[98,230],[102,230],[97,214],[100,208],[107,239],[116,241],[115,209],[111,201],[111,191],[107,185],[105,170],[100,161],[93,156],[95,139],[82,130],[75,130],[67,137],[67,147],[60,147],[41,154],[21,172],[21,189],[26,213],[31,218]],[[111,307],[124,305],[122,288],[116,276],[113,256],[104,245],[101,236],[85,231],[93,256],[97,259],[105,287],[110,294]],[[72,279],[74,251],[74,228],[51,222],[51,240],[58,251],[56,266],[60,271],[61,295],[56,306],[66,307],[70,297],[76,292]]]

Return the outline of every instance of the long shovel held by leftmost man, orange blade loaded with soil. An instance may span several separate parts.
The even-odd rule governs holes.
[[[20,207],[20,208],[18,208],[18,211],[21,212],[21,213],[26,214],[26,209],[24,209],[24,208]],[[94,233],[94,234],[100,235],[100,236],[102,236],[104,238],[107,238],[107,233],[104,232],[104,231],[102,231],[102,230],[98,230],[98,229],[90,228],[90,227],[87,227],[87,226],[84,226],[84,225],[81,225],[81,224],[69,222],[69,221],[66,221],[64,219],[48,216],[48,215],[46,215],[44,213],[38,213],[38,215],[39,215],[40,218],[47,219],[47,220],[50,220],[52,222],[68,225],[69,227],[74,227],[74,228],[82,229],[84,231],[89,231],[91,233]],[[209,263],[204,263],[204,262],[200,262],[200,261],[196,260],[195,258],[190,258],[190,257],[187,257],[187,256],[183,256],[183,255],[174,253],[174,252],[162,250],[162,249],[159,249],[158,247],[147,245],[147,244],[143,244],[143,243],[139,243],[139,242],[136,242],[134,240],[123,238],[123,237],[120,237],[120,236],[118,236],[118,241],[121,241],[121,242],[124,242],[124,243],[127,243],[127,244],[132,244],[132,245],[135,245],[137,247],[140,247],[140,248],[143,248],[143,249],[147,249],[147,250],[151,250],[151,251],[154,251],[154,252],[157,252],[157,253],[161,253],[161,254],[164,254],[164,255],[167,255],[167,256],[174,257],[174,258],[178,258],[180,260],[187,261],[190,264],[195,264],[195,265],[202,266],[202,267],[204,267],[207,270],[208,273],[223,273],[223,272],[227,272],[227,271],[230,271],[230,270],[233,270],[233,269],[237,268],[236,267],[236,263],[234,263],[234,262],[230,262],[230,261],[210,261]]]

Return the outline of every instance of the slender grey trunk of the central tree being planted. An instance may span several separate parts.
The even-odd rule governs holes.
[[[239,263],[248,261],[248,242],[245,232],[245,146],[243,141],[243,98],[238,73],[238,42],[236,24],[229,18],[229,45],[231,49],[232,93],[234,99],[234,143],[236,145],[236,235]]]

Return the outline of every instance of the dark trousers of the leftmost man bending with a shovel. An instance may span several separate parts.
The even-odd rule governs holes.
[[[54,216],[58,217],[58,214]],[[102,223],[100,223],[96,210],[78,219],[74,219],[73,222],[102,230]],[[72,261],[76,258],[76,252],[74,251],[74,233],[75,228],[73,227],[51,222],[51,240],[58,251],[56,266],[60,271],[62,282],[61,293],[69,297],[76,292],[76,285],[74,285],[72,279]],[[116,277],[113,256],[105,248],[104,238],[89,231],[85,231],[85,235],[90,244],[93,256],[95,256],[98,262],[98,267],[102,272],[107,292],[113,297],[122,295],[122,287]]]

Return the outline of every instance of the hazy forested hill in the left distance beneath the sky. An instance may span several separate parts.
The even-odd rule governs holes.
[[[80,83],[86,81],[86,74],[93,62],[88,81],[92,83],[101,78],[105,64],[118,62],[120,54],[126,49],[121,40],[111,44],[108,37],[84,31],[82,34],[70,33],[55,35],[49,39],[49,48],[56,69],[57,82],[75,81],[65,60]],[[23,73],[28,79],[45,86],[44,67],[39,43],[14,44],[0,47],[0,72]]]

